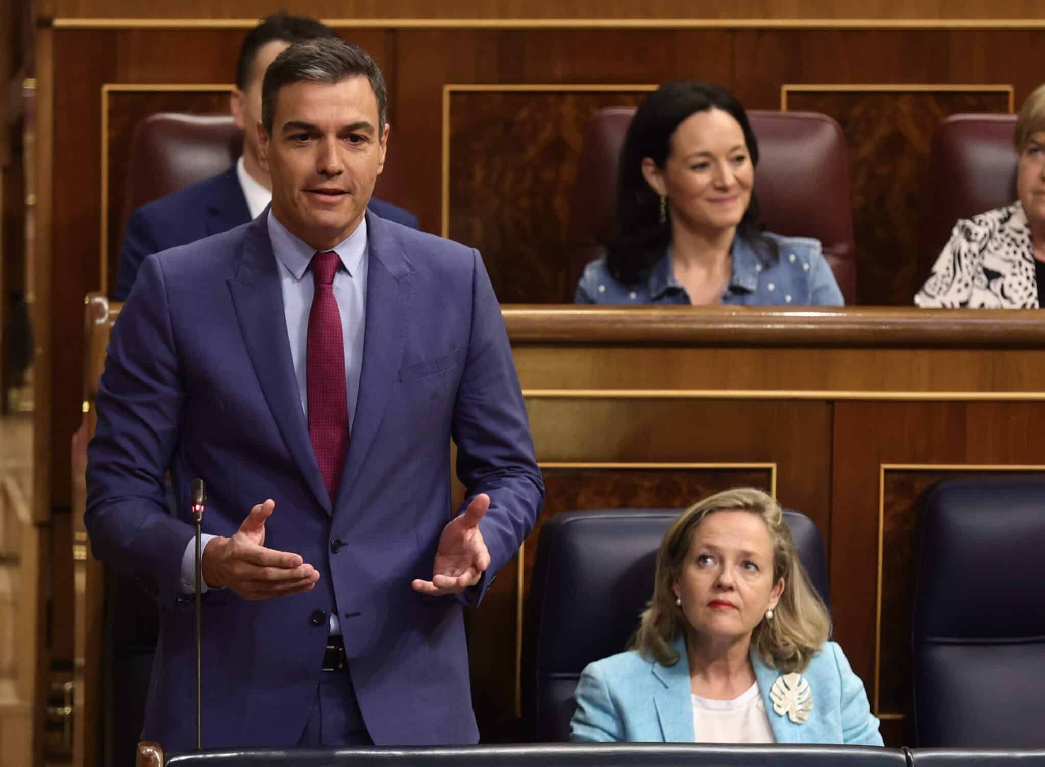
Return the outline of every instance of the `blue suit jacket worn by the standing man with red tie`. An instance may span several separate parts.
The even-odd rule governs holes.
[[[160,606],[142,737],[194,742],[194,605],[179,589],[193,536],[232,535],[276,502],[265,545],[321,573],[312,590],[247,601],[205,595],[205,747],[293,745],[316,698],[336,608],[352,681],[381,743],[478,738],[462,599],[431,579],[458,477],[491,506],[481,531],[493,574],[533,527],[543,484],[501,309],[477,251],[367,214],[369,274],[358,404],[338,497],[327,496],[295,379],[264,215],[149,256],[113,328],[88,449],[85,516],[95,555]],[[164,502],[170,466],[176,515]],[[334,538],[345,541],[331,552]]]

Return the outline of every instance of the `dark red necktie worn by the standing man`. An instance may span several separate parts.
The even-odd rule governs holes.
[[[336,253],[312,257],[316,295],[308,312],[306,365],[308,434],[330,503],[338,501],[341,471],[348,456],[348,384],[341,312],[333,297],[333,276],[341,266]]]

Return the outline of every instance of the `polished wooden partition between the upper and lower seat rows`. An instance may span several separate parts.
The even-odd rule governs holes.
[[[118,309],[92,306],[89,385]],[[1045,477],[1045,321],[883,308],[503,313],[548,502],[521,566],[519,557],[509,562],[469,615],[484,740],[526,733],[516,718],[520,617],[540,525],[566,510],[683,507],[754,485],[819,528],[835,637],[883,717],[886,742],[909,744],[919,498],[959,474]],[[77,625],[94,632],[96,649],[89,600],[100,581],[87,582]],[[89,654],[77,664],[96,668]]]

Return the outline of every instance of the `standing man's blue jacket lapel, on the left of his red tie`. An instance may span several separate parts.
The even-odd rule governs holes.
[[[316,462],[305,415],[301,412],[291,342],[286,338],[279,270],[269,239],[268,216],[258,216],[247,228],[242,260],[228,284],[247,352],[273,418],[309,489],[329,514],[330,498]]]

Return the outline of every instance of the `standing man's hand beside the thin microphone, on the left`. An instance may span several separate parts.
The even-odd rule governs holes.
[[[269,599],[307,591],[319,572],[298,554],[264,548],[264,522],[276,502],[258,504],[231,538],[211,539],[203,550],[203,579],[231,588],[243,599]]]

